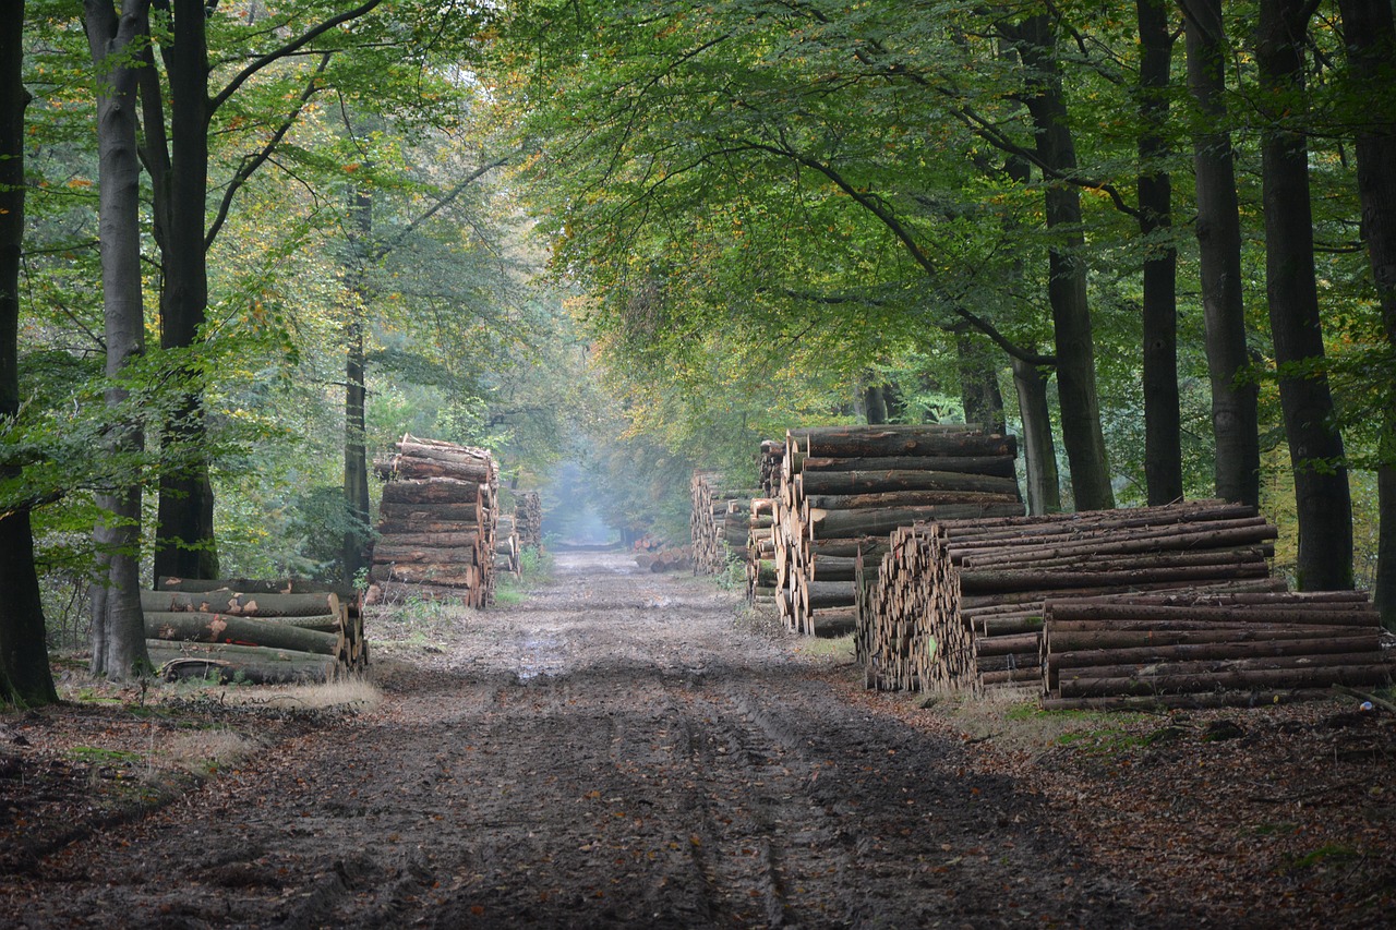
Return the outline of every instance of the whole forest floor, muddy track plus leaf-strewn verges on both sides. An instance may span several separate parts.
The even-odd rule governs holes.
[[[1381,927],[1396,725],[867,693],[618,553],[371,620],[374,705],[0,715],[0,926]],[[71,690],[71,688],[70,688]],[[244,688],[246,690],[246,688]],[[101,697],[101,695],[98,695]],[[177,740],[225,735],[168,762]]]

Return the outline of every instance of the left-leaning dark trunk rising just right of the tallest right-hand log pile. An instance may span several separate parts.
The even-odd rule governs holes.
[[[1060,175],[1076,172],[1076,147],[1061,87],[1055,36],[1047,15],[1034,15],[1012,29],[1019,54],[1030,71],[1027,110],[1037,131],[1037,156]],[[1096,390],[1096,344],[1086,299],[1085,237],[1081,193],[1074,184],[1053,182],[1046,193],[1047,228],[1060,233],[1048,247],[1047,299],[1057,344],[1057,397],[1061,436],[1067,447],[1076,510],[1111,510],[1106,438],[1100,429]]]

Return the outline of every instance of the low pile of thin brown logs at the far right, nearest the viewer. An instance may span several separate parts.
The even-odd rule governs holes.
[[[1047,708],[1248,707],[1396,674],[1364,592],[1053,598],[1044,621]]]

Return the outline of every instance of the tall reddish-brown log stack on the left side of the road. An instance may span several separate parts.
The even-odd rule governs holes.
[[[494,596],[500,469],[489,450],[420,440],[378,462],[388,479],[369,568],[369,602],[406,593],[459,598],[480,607]]]

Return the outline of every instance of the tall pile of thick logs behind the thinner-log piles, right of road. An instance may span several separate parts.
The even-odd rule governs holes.
[[[773,503],[776,607],[796,633],[853,631],[854,573],[888,533],[926,519],[1020,515],[1016,441],[965,425],[786,433]]]

